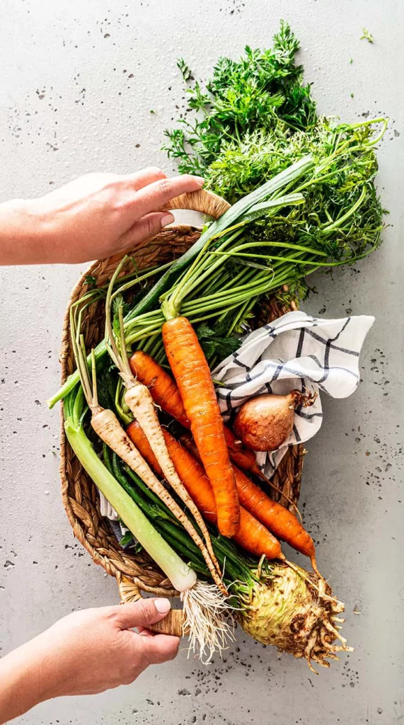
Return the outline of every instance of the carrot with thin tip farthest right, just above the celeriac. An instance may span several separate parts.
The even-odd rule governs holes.
[[[189,434],[181,436],[180,441],[187,448],[188,452],[194,456],[198,456],[195,442],[190,439]],[[306,529],[303,528],[295,514],[270,499],[237,466],[233,465],[233,471],[235,473],[240,504],[250,511],[258,521],[261,521],[269,531],[272,531],[272,534],[275,534],[278,539],[282,539],[282,541],[290,544],[300,554],[308,556],[311,559],[311,566],[313,566],[314,571],[317,573],[316,550],[313,539]]]

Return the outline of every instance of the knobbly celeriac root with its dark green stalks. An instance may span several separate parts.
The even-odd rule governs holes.
[[[209,580],[200,550],[167,506],[106,446],[104,463],[161,537],[199,576]],[[343,605],[323,579],[294,564],[246,555],[212,528],[210,535],[235,617],[251,637],[296,658],[306,658],[312,669],[311,661],[327,667],[329,658],[350,651],[339,632]],[[335,639],[340,640],[337,646]]]

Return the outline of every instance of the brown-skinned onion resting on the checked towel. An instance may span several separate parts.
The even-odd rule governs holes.
[[[268,393],[247,400],[238,411],[234,430],[254,451],[277,450],[293,431],[297,407],[313,405],[316,394],[292,390],[287,395]]]

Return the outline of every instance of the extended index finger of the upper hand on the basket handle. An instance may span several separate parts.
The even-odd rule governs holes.
[[[135,220],[150,212],[156,212],[175,196],[198,191],[203,186],[203,182],[201,176],[184,174],[149,183],[133,196],[132,210]]]

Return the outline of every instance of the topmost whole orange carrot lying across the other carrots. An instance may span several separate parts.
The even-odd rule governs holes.
[[[240,524],[240,505],[209,365],[186,318],[168,320],[162,334],[203,468],[214,490],[219,531],[232,537]]]

